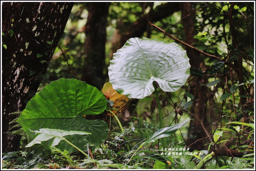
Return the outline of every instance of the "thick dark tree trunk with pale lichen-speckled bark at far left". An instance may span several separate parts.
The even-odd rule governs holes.
[[[20,137],[6,133],[37,91],[63,34],[74,3],[4,2],[2,4],[2,149],[15,151]]]

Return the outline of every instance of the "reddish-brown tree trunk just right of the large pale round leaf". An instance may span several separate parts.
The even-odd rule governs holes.
[[[196,40],[193,36],[196,34],[194,29],[194,22],[193,17],[195,15],[194,11],[192,10],[192,5],[190,2],[181,2],[180,3],[181,13],[182,13],[182,23],[184,27],[185,39],[184,42],[193,45]],[[195,51],[191,48],[186,48],[188,58],[190,58],[189,62],[191,67],[201,69],[204,66],[204,60],[200,57],[200,53]],[[195,77],[190,83],[190,93],[194,95],[194,99],[197,99],[191,105],[190,112],[192,114],[192,121],[190,122],[188,137],[187,137],[187,145],[192,144],[196,140],[202,139],[207,136],[209,130],[205,128],[206,120],[206,113],[207,113],[207,98],[208,92],[207,87],[200,85],[200,83],[206,84],[207,79],[204,77]],[[207,132],[207,134],[206,134]],[[194,149],[199,150],[202,148],[203,141],[198,141],[194,143],[190,148],[192,151]],[[205,142],[204,142],[205,143]]]

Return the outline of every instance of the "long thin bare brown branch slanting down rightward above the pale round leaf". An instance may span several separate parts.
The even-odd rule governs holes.
[[[185,46],[187,46],[187,47],[189,47],[189,48],[191,48],[191,49],[194,49],[194,50],[198,51],[198,52],[201,53],[202,55],[205,55],[205,56],[210,57],[210,58],[217,59],[217,60],[222,61],[222,62],[225,62],[228,66],[232,67],[236,72],[238,72],[238,69],[237,69],[233,64],[229,63],[228,61],[225,61],[224,59],[221,59],[221,58],[219,58],[219,57],[217,57],[217,56],[215,56],[215,55],[210,55],[210,54],[208,54],[208,53],[205,53],[205,52],[203,52],[203,51],[201,51],[201,50],[199,50],[199,49],[197,49],[197,48],[195,48],[195,47],[193,47],[193,46],[191,46],[191,45],[189,45],[189,44],[183,42],[182,40],[179,40],[179,39],[173,37],[171,34],[166,33],[166,32],[165,32],[164,30],[162,30],[160,27],[156,26],[155,24],[153,24],[153,23],[151,23],[151,22],[149,22],[149,24],[150,24],[152,27],[156,28],[157,30],[161,31],[163,34],[165,34],[165,35],[167,35],[168,37],[172,38],[173,40],[176,40],[176,41],[180,42],[181,44],[183,44],[183,45],[185,45]]]

